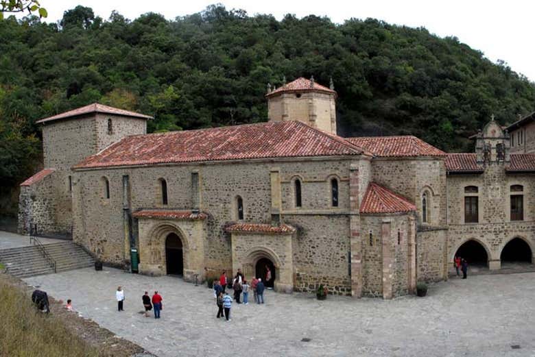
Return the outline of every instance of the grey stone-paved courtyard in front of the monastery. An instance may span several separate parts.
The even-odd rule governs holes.
[[[84,317],[160,357],[535,356],[535,273],[452,278],[432,284],[427,297],[391,301],[268,291],[265,305],[234,304],[228,323],[215,318],[210,289],[179,278],[105,268],[25,281],[73,299]],[[143,291],[154,289],[164,299],[159,320],[140,313]]]

